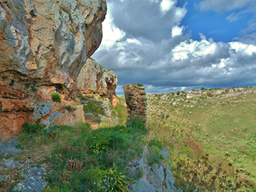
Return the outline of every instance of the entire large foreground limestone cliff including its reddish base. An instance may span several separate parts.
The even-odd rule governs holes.
[[[20,132],[24,122],[84,120],[81,106],[62,107],[73,105],[106,12],[105,0],[0,0],[0,134]]]

